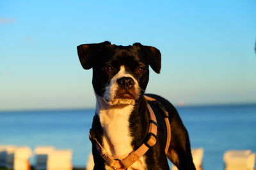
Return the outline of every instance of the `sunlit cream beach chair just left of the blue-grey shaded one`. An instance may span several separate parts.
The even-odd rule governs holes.
[[[18,147],[7,155],[7,168],[13,170],[29,170],[29,157],[32,152],[28,146]]]

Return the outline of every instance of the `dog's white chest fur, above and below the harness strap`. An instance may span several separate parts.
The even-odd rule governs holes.
[[[100,124],[104,131],[103,147],[109,155],[116,159],[122,160],[133,151],[129,128],[129,117],[133,107],[128,105],[124,108],[99,110]],[[112,168],[106,167],[106,169]],[[128,169],[145,169],[145,159],[141,157]]]

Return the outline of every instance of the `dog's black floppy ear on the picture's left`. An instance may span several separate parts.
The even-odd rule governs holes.
[[[84,44],[77,46],[77,53],[81,65],[84,69],[91,69],[95,61],[98,59],[102,47],[104,45],[110,45],[109,41],[104,41],[103,43],[97,44]]]

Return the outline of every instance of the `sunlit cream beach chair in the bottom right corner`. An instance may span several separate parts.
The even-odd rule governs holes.
[[[225,170],[253,170],[255,153],[251,150],[228,150],[224,153]]]

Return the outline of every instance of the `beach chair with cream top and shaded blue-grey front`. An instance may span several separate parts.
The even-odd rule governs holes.
[[[35,148],[35,169],[47,169],[48,155],[54,150],[55,148],[53,146],[37,146]]]

